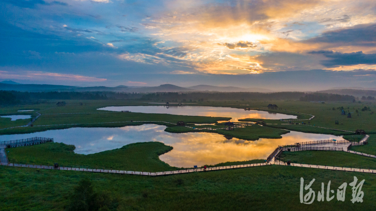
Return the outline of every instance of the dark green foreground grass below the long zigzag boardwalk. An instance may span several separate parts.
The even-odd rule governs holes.
[[[331,189],[336,190],[343,182],[352,182],[353,176],[365,179],[362,203],[350,201],[349,186],[344,202],[336,198],[317,201],[321,182],[327,185],[330,180]],[[305,184],[316,179],[312,185],[316,199],[310,205],[299,201],[300,177]],[[278,165],[159,177],[43,169],[37,172],[33,168],[0,166],[2,209],[64,210],[74,185],[82,178],[92,180],[97,190],[117,197],[117,210],[376,209],[376,178],[372,174]]]

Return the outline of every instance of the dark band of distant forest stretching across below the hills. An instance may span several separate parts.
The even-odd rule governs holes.
[[[304,92],[19,92],[0,91],[0,105],[38,103],[41,100],[140,100],[156,102],[200,101],[253,101],[253,100],[300,100],[300,101],[352,101],[351,95]],[[368,98],[366,98],[368,99]]]

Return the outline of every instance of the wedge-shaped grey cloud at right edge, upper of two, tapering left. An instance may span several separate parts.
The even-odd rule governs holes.
[[[354,27],[323,33],[304,43],[329,43],[346,46],[376,46],[376,24],[362,24]]]

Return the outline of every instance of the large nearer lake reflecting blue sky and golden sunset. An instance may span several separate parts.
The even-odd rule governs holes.
[[[92,154],[120,148],[135,142],[159,141],[173,150],[159,158],[171,166],[193,167],[226,161],[265,159],[278,145],[323,139],[343,140],[341,137],[291,131],[281,139],[262,138],[246,141],[215,133],[168,133],[165,126],[141,125],[121,128],[69,128],[31,134],[2,135],[0,141],[30,137],[51,137],[55,142],[74,144],[75,152]]]

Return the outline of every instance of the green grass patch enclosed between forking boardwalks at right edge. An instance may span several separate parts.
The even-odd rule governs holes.
[[[281,158],[293,163],[376,169],[376,158],[341,151],[285,151]]]

